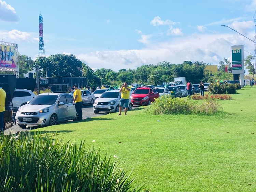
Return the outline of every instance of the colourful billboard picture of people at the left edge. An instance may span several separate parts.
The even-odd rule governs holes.
[[[16,68],[16,47],[0,44],[0,67]]]

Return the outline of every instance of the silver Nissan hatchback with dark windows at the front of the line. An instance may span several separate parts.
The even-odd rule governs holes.
[[[69,93],[42,93],[26,105],[19,107],[16,120],[19,127],[31,125],[56,125],[76,119],[73,97]]]

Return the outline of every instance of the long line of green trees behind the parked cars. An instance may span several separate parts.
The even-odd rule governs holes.
[[[205,70],[203,61],[184,61],[181,64],[174,64],[162,61],[156,64],[144,64],[137,69],[120,69],[118,72],[111,69],[92,70],[88,65],[77,59],[73,54],[55,54],[48,57],[39,57],[33,61],[26,55],[18,55],[19,77],[38,67],[39,78],[46,77],[46,70],[51,70],[53,77],[87,77],[89,86],[111,85],[119,86],[123,82],[159,85],[163,82],[173,82],[174,77],[186,77],[192,83],[215,82],[215,80],[231,80],[233,75],[225,73],[225,65],[231,69],[231,62],[224,59],[219,62],[218,72],[212,73]],[[246,57],[245,66],[249,73],[252,73],[252,57]],[[12,72],[1,72],[11,74]]]

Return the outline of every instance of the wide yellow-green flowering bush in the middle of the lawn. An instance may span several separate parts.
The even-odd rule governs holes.
[[[171,114],[214,114],[219,108],[215,100],[194,102],[187,98],[172,98],[162,95],[146,108],[146,113],[153,115]]]

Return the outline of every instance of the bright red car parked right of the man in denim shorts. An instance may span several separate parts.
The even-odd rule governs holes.
[[[150,105],[159,97],[158,92],[154,92],[150,87],[138,87],[131,95],[132,105]]]

